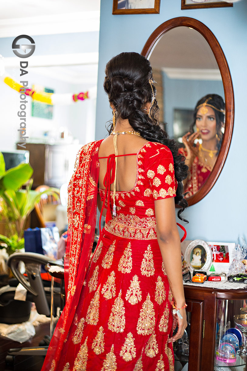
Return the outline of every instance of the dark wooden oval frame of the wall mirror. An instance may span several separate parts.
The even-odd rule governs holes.
[[[148,59],[151,51],[154,49],[159,39],[169,30],[180,26],[187,26],[197,30],[204,37],[204,39],[207,40],[218,63],[225,93],[225,131],[221,142],[220,152],[218,154],[213,170],[211,171],[211,174],[209,175],[205,183],[195,194],[187,198],[188,205],[191,206],[201,201],[202,198],[204,198],[213,188],[224,166],[231,144],[231,137],[233,134],[234,93],[230,70],[223,50],[221,49],[221,46],[214,36],[213,32],[207,26],[205,26],[204,23],[198,21],[197,19],[189,17],[177,17],[169,19],[168,21],[162,23],[148,38],[148,41],[145,43],[141,54]]]

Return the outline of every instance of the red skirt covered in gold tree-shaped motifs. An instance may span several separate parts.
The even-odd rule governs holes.
[[[118,217],[112,224],[102,230],[104,243],[99,240],[92,257],[56,369],[174,370],[172,343],[167,343],[172,293],[157,239],[116,236],[108,230],[118,226],[124,236],[129,227],[123,220],[118,225]]]

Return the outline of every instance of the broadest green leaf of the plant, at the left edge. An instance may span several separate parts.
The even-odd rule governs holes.
[[[17,191],[32,176],[33,168],[30,164],[20,164],[6,171],[0,180],[0,188]]]

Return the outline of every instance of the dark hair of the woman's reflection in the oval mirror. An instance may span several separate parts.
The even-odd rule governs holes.
[[[223,98],[218,95],[218,94],[207,94],[205,96],[203,96],[198,102],[197,104],[195,105],[195,109],[194,109],[194,112],[193,112],[193,123],[191,124],[190,126],[190,132],[191,134],[194,132],[194,125],[195,125],[195,120],[196,120],[196,117],[197,117],[197,112],[198,112],[198,109],[200,108],[197,108],[198,106],[200,106],[202,103],[204,103],[206,100],[207,103],[208,103],[208,106],[211,107],[214,111],[214,114],[215,114],[215,119],[216,119],[216,134],[217,134],[217,145],[216,145],[216,150],[217,150],[217,155],[220,151],[220,147],[221,147],[221,142],[222,142],[222,138],[223,138],[223,132],[221,131],[221,129],[224,127],[224,124],[225,124],[225,102],[223,101]],[[207,104],[206,104],[207,106]]]

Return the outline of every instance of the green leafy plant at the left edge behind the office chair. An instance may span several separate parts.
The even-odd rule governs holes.
[[[32,190],[33,168],[20,164],[5,171],[5,161],[0,152],[0,218],[6,222],[6,236],[0,234],[0,248],[5,247],[10,255],[24,247],[23,230],[27,217],[43,194],[59,198],[57,188],[43,192]],[[21,189],[24,185],[26,187]]]

